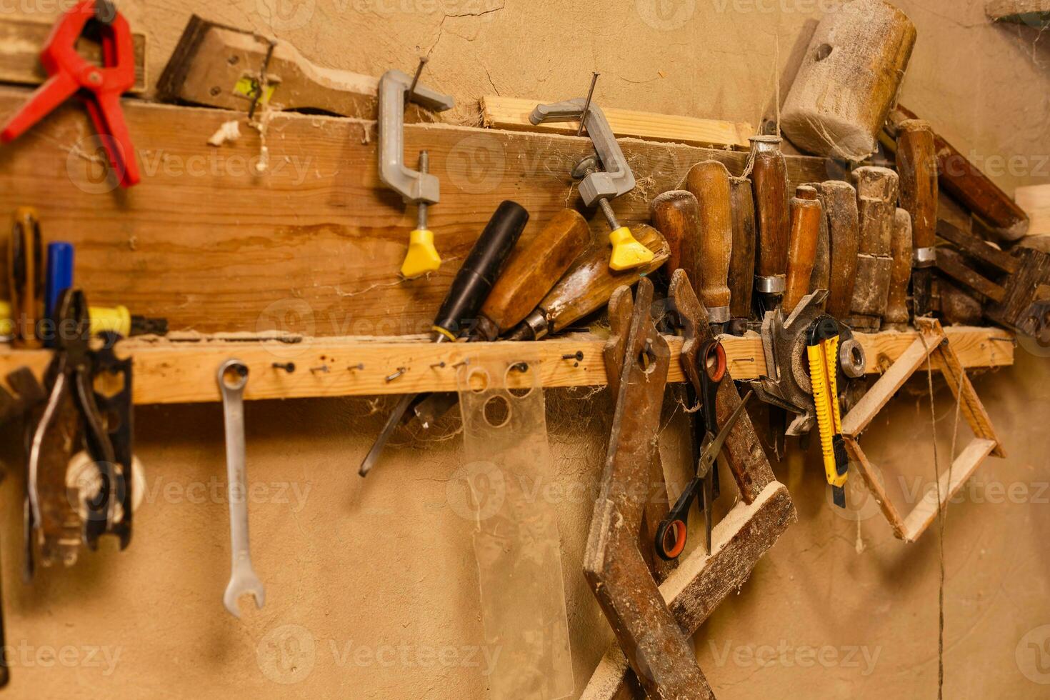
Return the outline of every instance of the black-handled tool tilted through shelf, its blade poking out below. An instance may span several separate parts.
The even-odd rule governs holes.
[[[504,201],[492,214],[488,225],[478,241],[470,250],[463,267],[456,273],[453,285],[445,296],[441,309],[434,320],[432,330],[434,342],[456,341],[456,339],[475,322],[478,311],[496,284],[500,272],[510,252],[521,237],[525,225],[528,224],[528,212],[514,201]],[[382,432],[372,446],[369,454],[361,462],[358,473],[368,475],[379,460],[386,441],[394,429],[401,423],[408,407],[417,401],[419,395],[406,394],[398,402],[394,411],[386,419]]]

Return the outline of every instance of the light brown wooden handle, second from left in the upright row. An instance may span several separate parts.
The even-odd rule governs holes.
[[[700,207],[695,270],[686,273],[697,283],[697,295],[711,323],[730,319],[729,262],[733,250],[733,188],[729,170],[718,161],[704,161],[686,175],[686,189]],[[688,259],[689,255],[684,253]],[[699,276],[697,276],[697,273]]]

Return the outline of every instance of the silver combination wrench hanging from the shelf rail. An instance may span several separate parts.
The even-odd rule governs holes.
[[[248,367],[240,360],[227,360],[218,368],[218,387],[223,393],[223,412],[226,418],[226,473],[230,482],[230,546],[233,556],[230,582],[223,602],[234,617],[240,617],[237,599],[251,593],[255,607],[266,602],[266,589],[252,570],[252,556],[248,549],[248,500],[245,478],[245,384]]]

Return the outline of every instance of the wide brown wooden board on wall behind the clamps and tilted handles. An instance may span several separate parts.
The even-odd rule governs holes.
[[[0,88],[0,119],[26,90]],[[429,151],[441,181],[430,229],[445,263],[398,274],[416,210],[379,182],[375,122],[274,114],[269,167],[256,172],[259,134],[215,148],[208,139],[236,112],[123,102],[143,182],[121,190],[77,101],[0,148],[0,211],[32,205],[45,240],[77,248],[77,284],[93,304],[166,317],[173,331],[255,333],[279,317],[312,336],[412,335],[428,330],[463,258],[504,199],[532,215],[523,241],[566,207],[582,207],[572,166],[588,139],[417,124],[410,161]],[[747,153],[625,139],[640,185],[613,203],[626,225],[647,222],[651,199],[715,158],[739,174]],[[827,177],[821,158],[788,158],[792,186]],[[588,212],[596,239],[604,218]],[[6,284],[0,273],[0,289]]]

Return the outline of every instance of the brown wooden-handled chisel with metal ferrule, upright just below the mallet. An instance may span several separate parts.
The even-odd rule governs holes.
[[[911,296],[916,316],[932,311],[933,268],[937,266],[938,174],[933,129],[928,122],[906,120],[897,127],[897,171],[901,207],[911,216],[915,271]]]

